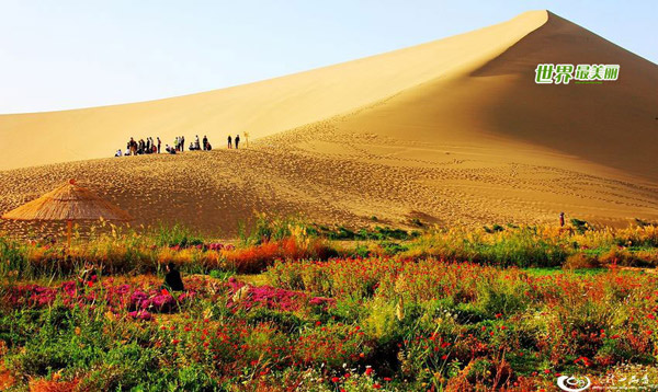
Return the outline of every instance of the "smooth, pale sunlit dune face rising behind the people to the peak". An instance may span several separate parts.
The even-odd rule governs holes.
[[[490,59],[546,21],[531,12],[468,34],[263,82],[168,100],[0,116],[0,142],[30,142],[0,158],[1,169],[103,158],[131,136],[273,135],[445,77]],[[121,88],[121,87],[117,87]]]

